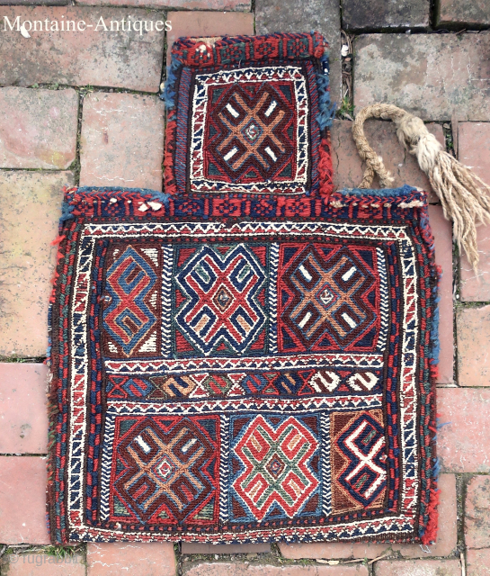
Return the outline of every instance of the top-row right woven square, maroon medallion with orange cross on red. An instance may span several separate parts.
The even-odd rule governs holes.
[[[372,250],[356,254],[338,245],[290,245],[281,247],[281,257],[282,351],[369,351],[376,346],[379,284],[371,269]]]

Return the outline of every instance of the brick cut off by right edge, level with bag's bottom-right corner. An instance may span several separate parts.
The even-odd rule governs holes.
[[[468,548],[490,544],[490,476],[474,476],[467,486],[465,542]]]

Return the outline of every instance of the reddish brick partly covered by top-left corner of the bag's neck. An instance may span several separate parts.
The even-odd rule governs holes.
[[[202,3],[200,3],[202,6]],[[172,45],[181,36],[235,36],[254,34],[254,14],[216,12],[170,12],[172,30],[166,33],[166,63],[170,64]]]

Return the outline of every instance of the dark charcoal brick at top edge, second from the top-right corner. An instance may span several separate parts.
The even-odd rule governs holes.
[[[425,0],[343,0],[343,30],[427,28],[429,3]]]

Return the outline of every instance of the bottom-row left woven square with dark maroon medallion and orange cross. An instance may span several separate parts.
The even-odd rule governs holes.
[[[209,524],[218,511],[218,418],[119,417],[111,517]]]

